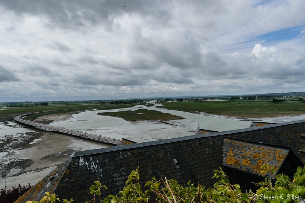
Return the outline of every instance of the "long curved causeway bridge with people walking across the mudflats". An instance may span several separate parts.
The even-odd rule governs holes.
[[[31,113],[33,114],[33,113]],[[109,144],[109,145],[117,145],[120,143],[120,139],[116,139],[116,138],[109,138],[106,136],[101,136],[101,135],[94,135],[94,134],[90,134],[87,132],[80,132],[80,131],[75,131],[72,129],[67,129],[67,128],[62,128],[62,127],[57,127],[57,126],[52,126],[52,125],[46,125],[46,124],[40,124],[37,122],[33,122],[33,121],[27,121],[22,119],[22,117],[27,116],[30,114],[22,114],[19,116],[15,116],[14,120],[19,122],[19,123],[23,123],[35,128],[40,128],[40,129],[44,129],[47,131],[54,131],[57,133],[62,133],[65,135],[69,135],[69,136],[73,136],[73,137],[77,137],[77,138],[81,138],[81,139],[86,139],[86,140],[91,140],[91,141],[95,141],[95,142],[102,142],[105,144]]]

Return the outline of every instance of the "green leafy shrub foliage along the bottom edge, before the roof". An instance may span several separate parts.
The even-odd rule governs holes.
[[[264,164],[261,166],[263,172],[275,173],[274,167]],[[143,191],[139,183],[138,169],[133,170],[126,181],[125,187],[119,192],[119,195],[109,195],[101,199],[101,190],[107,189],[105,185],[101,185],[99,181],[95,181],[95,185],[90,187],[90,193],[94,194],[94,198],[86,203],[147,203],[151,198],[151,194],[156,195],[157,203],[222,203],[222,202],[296,202],[300,198],[304,198],[305,194],[305,166],[304,168],[298,167],[294,174],[293,180],[288,176],[278,174],[274,184],[271,180],[266,178],[264,181],[257,184],[259,189],[256,193],[246,191],[242,193],[239,184],[231,185],[228,176],[222,171],[214,170],[213,178],[219,178],[219,182],[214,184],[214,188],[205,188],[204,186],[191,184],[188,181],[188,187],[182,187],[176,180],[167,180],[161,178],[156,180],[155,177],[148,181],[144,187],[148,189]],[[54,203],[56,200],[55,194],[46,193],[47,196],[40,201],[27,201],[26,203],[42,203],[45,201]],[[63,202],[70,203],[73,199],[63,200]]]

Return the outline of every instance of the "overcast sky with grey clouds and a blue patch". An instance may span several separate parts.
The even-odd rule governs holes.
[[[0,101],[305,91],[304,0],[0,0]]]

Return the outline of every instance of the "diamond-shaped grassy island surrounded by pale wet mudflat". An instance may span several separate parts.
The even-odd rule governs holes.
[[[105,113],[98,113],[98,115],[120,117],[127,121],[183,119],[183,117],[181,116],[176,116],[176,115],[162,113],[160,111],[148,110],[148,109],[138,109],[134,111],[105,112]]]

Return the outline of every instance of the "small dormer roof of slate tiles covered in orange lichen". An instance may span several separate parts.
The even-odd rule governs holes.
[[[224,138],[223,165],[274,179],[289,151],[286,147]],[[274,166],[275,174],[261,173],[260,166],[267,163]]]

